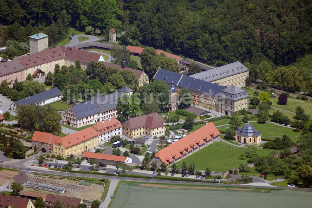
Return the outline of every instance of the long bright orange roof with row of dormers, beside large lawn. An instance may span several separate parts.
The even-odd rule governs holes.
[[[218,135],[220,135],[220,132],[217,130],[217,127],[210,122],[191,134],[182,137],[177,142],[170,144],[168,147],[159,150],[154,157],[159,158],[167,165],[174,159],[178,159],[182,155],[187,154],[187,152],[192,151],[198,145],[204,144],[205,140],[209,141]]]

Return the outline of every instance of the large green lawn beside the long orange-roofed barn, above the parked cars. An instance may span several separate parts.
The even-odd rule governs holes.
[[[194,162],[196,170],[205,170],[209,167],[212,171],[225,172],[237,168],[241,163],[247,163],[247,158],[245,160],[239,159],[239,156],[246,151],[246,148],[235,147],[224,142],[215,142],[176,164],[178,168],[181,168],[183,161],[187,165]],[[257,149],[261,156],[267,155],[271,151],[271,149]]]

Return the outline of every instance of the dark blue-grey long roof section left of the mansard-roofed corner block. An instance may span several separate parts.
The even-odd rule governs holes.
[[[156,72],[154,79],[161,80],[168,84],[171,84],[171,82],[173,81],[173,83],[177,87],[185,87],[190,90],[207,93],[214,96],[217,93],[221,93],[221,91],[226,88],[225,86],[219,86],[214,83],[202,81],[200,79],[195,79],[189,76],[185,76],[183,74],[174,73],[165,69],[159,69]]]

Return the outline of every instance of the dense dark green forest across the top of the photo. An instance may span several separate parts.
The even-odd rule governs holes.
[[[34,28],[50,30],[55,42],[69,26],[101,34],[115,27],[127,31],[125,44],[213,65],[294,63],[311,49],[310,11],[309,0],[0,0],[1,24],[15,25],[2,40],[27,37]]]

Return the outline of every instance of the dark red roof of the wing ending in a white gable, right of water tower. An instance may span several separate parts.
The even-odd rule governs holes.
[[[79,50],[75,47],[61,46],[64,51],[64,56],[67,59],[80,60],[81,62],[89,63],[91,61],[99,61],[101,55],[91,53],[85,50]]]

